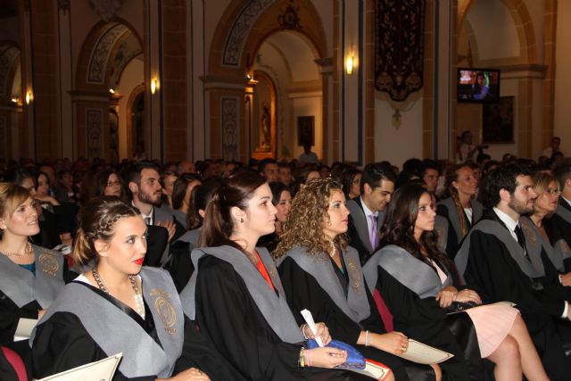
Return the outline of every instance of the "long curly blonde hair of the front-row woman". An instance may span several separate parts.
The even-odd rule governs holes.
[[[316,178],[299,190],[292,201],[284,234],[272,253],[274,258],[285,255],[295,246],[304,246],[311,255],[329,253],[331,242],[323,232],[323,221],[329,218],[327,210],[335,192],[343,194],[343,188],[332,178]],[[334,244],[345,249],[346,235],[335,236]]]

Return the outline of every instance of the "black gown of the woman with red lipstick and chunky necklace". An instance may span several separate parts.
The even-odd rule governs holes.
[[[94,292],[101,293],[93,288]],[[112,298],[112,297],[111,297]],[[153,315],[145,302],[145,320],[128,305],[112,298],[120,310],[128,314],[137,324],[145,328],[155,342],[161,344],[156,332]],[[231,367],[224,361],[206,339],[200,335],[190,319],[185,317],[185,333],[182,354],[177,360],[173,375],[189,369],[197,368],[211,377],[211,380],[226,381],[239,379]],[[37,378],[73,369],[90,362],[103,360],[114,353],[105,353],[89,335],[79,318],[70,312],[56,312],[37,327],[32,349],[32,372]],[[137,380],[154,381],[156,376],[125,377],[117,369],[113,381]]]

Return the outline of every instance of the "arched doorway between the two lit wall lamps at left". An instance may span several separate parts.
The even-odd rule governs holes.
[[[129,156],[128,102],[144,73],[141,38],[127,22],[95,25],[83,44],[72,92],[79,156],[110,162]]]

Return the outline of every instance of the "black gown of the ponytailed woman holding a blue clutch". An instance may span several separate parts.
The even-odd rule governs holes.
[[[300,368],[302,344],[283,342],[269,327],[232,265],[207,255],[198,266],[196,323],[241,377],[276,381],[365,379],[352,372]]]

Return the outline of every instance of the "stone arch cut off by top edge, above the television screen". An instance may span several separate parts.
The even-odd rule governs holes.
[[[462,29],[470,8],[477,0],[466,0],[458,7],[458,32]],[[521,57],[526,63],[536,63],[537,44],[535,42],[534,25],[525,6],[524,0],[501,0],[508,8],[519,37]]]

